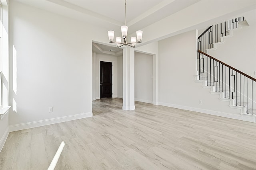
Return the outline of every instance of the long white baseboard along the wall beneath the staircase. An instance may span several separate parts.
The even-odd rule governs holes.
[[[245,115],[235,114],[235,113],[234,114],[225,113],[225,112],[220,112],[220,111],[200,109],[200,108],[196,108],[196,107],[181,106],[181,105],[168,104],[168,103],[162,103],[162,102],[158,102],[158,104],[161,106],[174,107],[177,109],[196,111],[196,112],[200,112],[200,113],[206,113],[206,114],[210,114],[210,115],[216,115],[216,116],[227,117],[227,118],[231,118],[231,119],[237,119],[237,120],[249,121],[249,122],[256,123],[256,117],[254,117],[254,116],[245,116]]]

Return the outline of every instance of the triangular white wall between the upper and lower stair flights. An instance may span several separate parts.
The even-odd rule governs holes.
[[[242,26],[242,29],[233,31],[230,38],[217,45],[217,49],[209,55],[229,64],[230,66],[256,78],[256,24]]]

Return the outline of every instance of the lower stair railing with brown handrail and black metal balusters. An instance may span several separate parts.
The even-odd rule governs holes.
[[[225,92],[225,98],[235,99],[236,106],[247,106],[247,114],[256,110],[256,79],[236,68],[198,50],[199,80],[216,86],[216,92]]]

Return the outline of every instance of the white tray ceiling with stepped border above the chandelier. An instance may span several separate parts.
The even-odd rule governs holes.
[[[18,0],[76,20],[105,28],[125,24],[124,0]],[[200,0],[127,0],[126,25],[129,32],[140,30]]]

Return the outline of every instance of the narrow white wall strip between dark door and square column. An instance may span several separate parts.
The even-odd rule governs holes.
[[[118,98],[123,98],[123,56],[117,57],[117,94]]]

